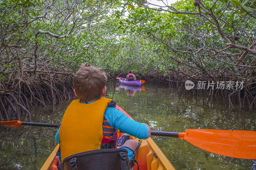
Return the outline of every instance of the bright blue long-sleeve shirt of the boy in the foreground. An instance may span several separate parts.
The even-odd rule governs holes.
[[[124,133],[139,139],[148,138],[148,127],[146,125],[128,118],[126,115],[124,115],[124,113],[114,107],[107,107],[104,113],[104,117],[106,120],[108,120],[112,127],[119,129]],[[59,130],[60,128],[55,135],[55,141],[57,143],[60,143]]]

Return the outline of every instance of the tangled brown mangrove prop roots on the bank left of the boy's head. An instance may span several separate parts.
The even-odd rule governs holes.
[[[0,120],[31,121],[30,107],[52,104],[70,99],[73,94],[73,75],[66,73],[36,73],[31,78],[27,72],[11,74],[0,80]]]

